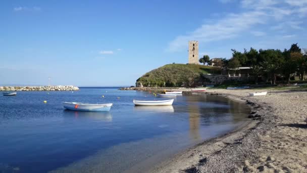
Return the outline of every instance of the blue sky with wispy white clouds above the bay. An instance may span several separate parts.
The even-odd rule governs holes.
[[[0,85],[133,85],[147,71],[231,49],[307,48],[307,0],[2,1]]]

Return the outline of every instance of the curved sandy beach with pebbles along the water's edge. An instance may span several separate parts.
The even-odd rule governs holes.
[[[150,172],[307,172],[306,91],[207,90],[250,105],[249,122],[234,132],[204,141]]]

